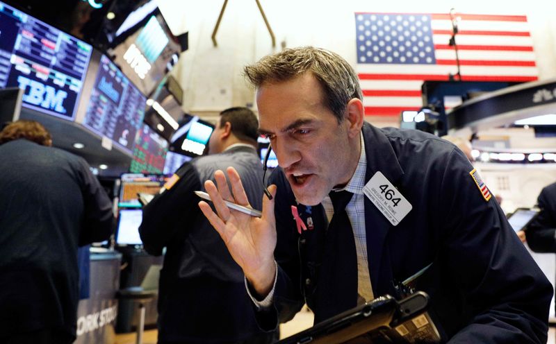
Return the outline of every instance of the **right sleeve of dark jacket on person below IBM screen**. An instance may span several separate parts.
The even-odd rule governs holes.
[[[108,239],[113,230],[114,214],[112,202],[101,187],[99,180],[92,175],[85,160],[79,160],[81,193],[83,193],[83,222],[79,246]]]

